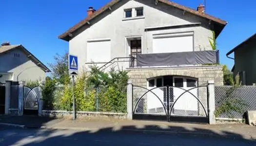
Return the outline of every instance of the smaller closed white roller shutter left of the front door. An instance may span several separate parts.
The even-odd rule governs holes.
[[[110,39],[87,42],[87,62],[109,62],[111,60]]]

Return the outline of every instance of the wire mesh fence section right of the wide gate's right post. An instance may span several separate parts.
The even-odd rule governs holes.
[[[256,110],[256,86],[216,86],[217,117],[243,118],[247,110]]]

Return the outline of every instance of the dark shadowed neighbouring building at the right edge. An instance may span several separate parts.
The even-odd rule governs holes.
[[[235,58],[229,57],[233,52]],[[228,52],[227,57],[235,60],[232,72],[234,77],[239,75],[242,85],[256,83],[256,34]]]

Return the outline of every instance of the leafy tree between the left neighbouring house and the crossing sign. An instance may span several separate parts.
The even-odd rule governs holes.
[[[54,56],[54,63],[49,63],[49,66],[53,72],[53,79],[60,84],[65,84],[70,81],[68,73],[68,52],[63,55],[56,54]]]

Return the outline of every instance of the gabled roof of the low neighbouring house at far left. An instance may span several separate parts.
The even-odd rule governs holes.
[[[0,55],[6,54],[12,50],[20,49],[24,52],[27,57],[33,61],[39,68],[41,68],[45,73],[50,73],[50,69],[48,69],[38,58],[36,58],[33,54],[31,54],[27,49],[25,49],[22,45],[8,45],[8,46],[0,46]]]

